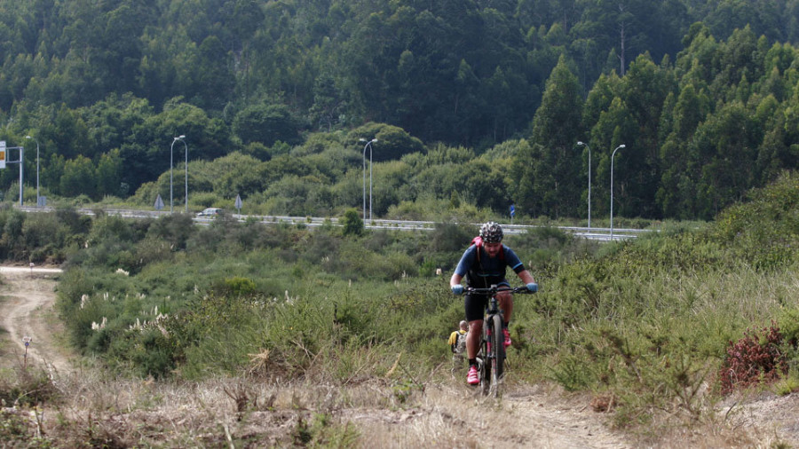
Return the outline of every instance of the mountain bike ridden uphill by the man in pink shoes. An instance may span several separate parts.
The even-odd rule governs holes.
[[[491,286],[490,288],[465,288],[464,294],[489,295],[486,313],[483,317],[483,335],[477,354],[478,372],[480,376],[479,390],[484,396],[497,398],[505,364],[505,335],[502,333],[502,310],[496,299],[500,292],[533,293],[526,287]]]

